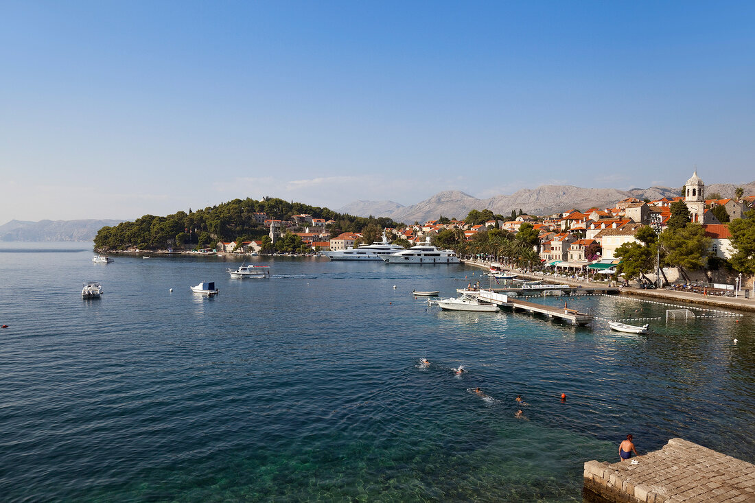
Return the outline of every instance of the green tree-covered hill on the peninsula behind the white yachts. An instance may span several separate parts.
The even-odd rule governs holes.
[[[214,245],[218,241],[250,241],[267,235],[267,228],[254,220],[254,213],[267,218],[288,221],[294,214],[311,214],[313,218],[333,220],[333,231],[360,232],[369,224],[396,227],[390,218],[363,218],[339,214],[328,208],[265,198],[233,199],[220,205],[191,211],[178,211],[165,217],[146,214],[133,222],[116,227],[103,227],[94,238],[97,251],[116,251],[128,248],[159,250],[166,248],[195,248]]]

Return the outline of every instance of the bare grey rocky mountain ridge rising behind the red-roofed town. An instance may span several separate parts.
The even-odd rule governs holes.
[[[737,187],[744,189],[745,196],[755,195],[755,181],[748,184],[710,184],[705,187],[707,194],[720,193],[723,197],[734,197]],[[630,190],[618,189],[590,189],[575,187],[573,185],[541,185],[536,189],[522,189],[513,194],[493,196],[488,199],[478,199],[461,190],[446,190],[418,202],[414,205],[402,206],[385,213],[379,211],[385,206],[386,201],[359,201],[350,203],[337,211],[347,212],[356,216],[365,217],[369,214],[374,216],[389,217],[397,222],[411,224],[414,221],[425,222],[434,220],[441,214],[448,218],[464,218],[470,210],[489,209],[495,214],[508,215],[511,210],[531,214],[553,214],[559,211],[568,211],[572,208],[586,210],[587,208],[609,208],[627,197],[637,199],[662,199],[680,196],[682,187],[649,187],[647,189],[634,188]]]

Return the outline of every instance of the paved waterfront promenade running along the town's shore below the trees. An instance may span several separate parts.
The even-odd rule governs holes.
[[[468,264],[475,267],[482,267],[488,269],[490,262],[486,261],[470,261],[465,260],[464,264]],[[556,283],[562,283],[569,286],[582,286],[584,287],[605,287],[609,285],[609,282],[591,282],[587,279],[572,279],[564,278],[562,276],[553,276],[550,274],[541,273],[525,273],[525,271],[518,269],[510,269],[518,276],[528,279],[543,279],[544,281],[552,281]],[[621,295],[638,295],[641,297],[655,298],[657,300],[664,300],[675,302],[678,304],[701,304],[711,307],[720,307],[725,309],[738,309],[755,312],[755,298],[733,298],[733,297],[718,297],[712,295],[702,295],[693,292],[682,292],[679,290],[666,290],[666,289],[638,289],[629,286],[621,287],[619,289]]]

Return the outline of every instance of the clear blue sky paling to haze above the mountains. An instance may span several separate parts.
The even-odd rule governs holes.
[[[0,2],[0,224],[755,180],[755,2]]]

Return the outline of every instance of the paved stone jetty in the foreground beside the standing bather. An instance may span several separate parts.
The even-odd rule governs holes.
[[[755,501],[755,464],[673,438],[661,450],[631,461],[587,461],[584,499],[609,503]]]

